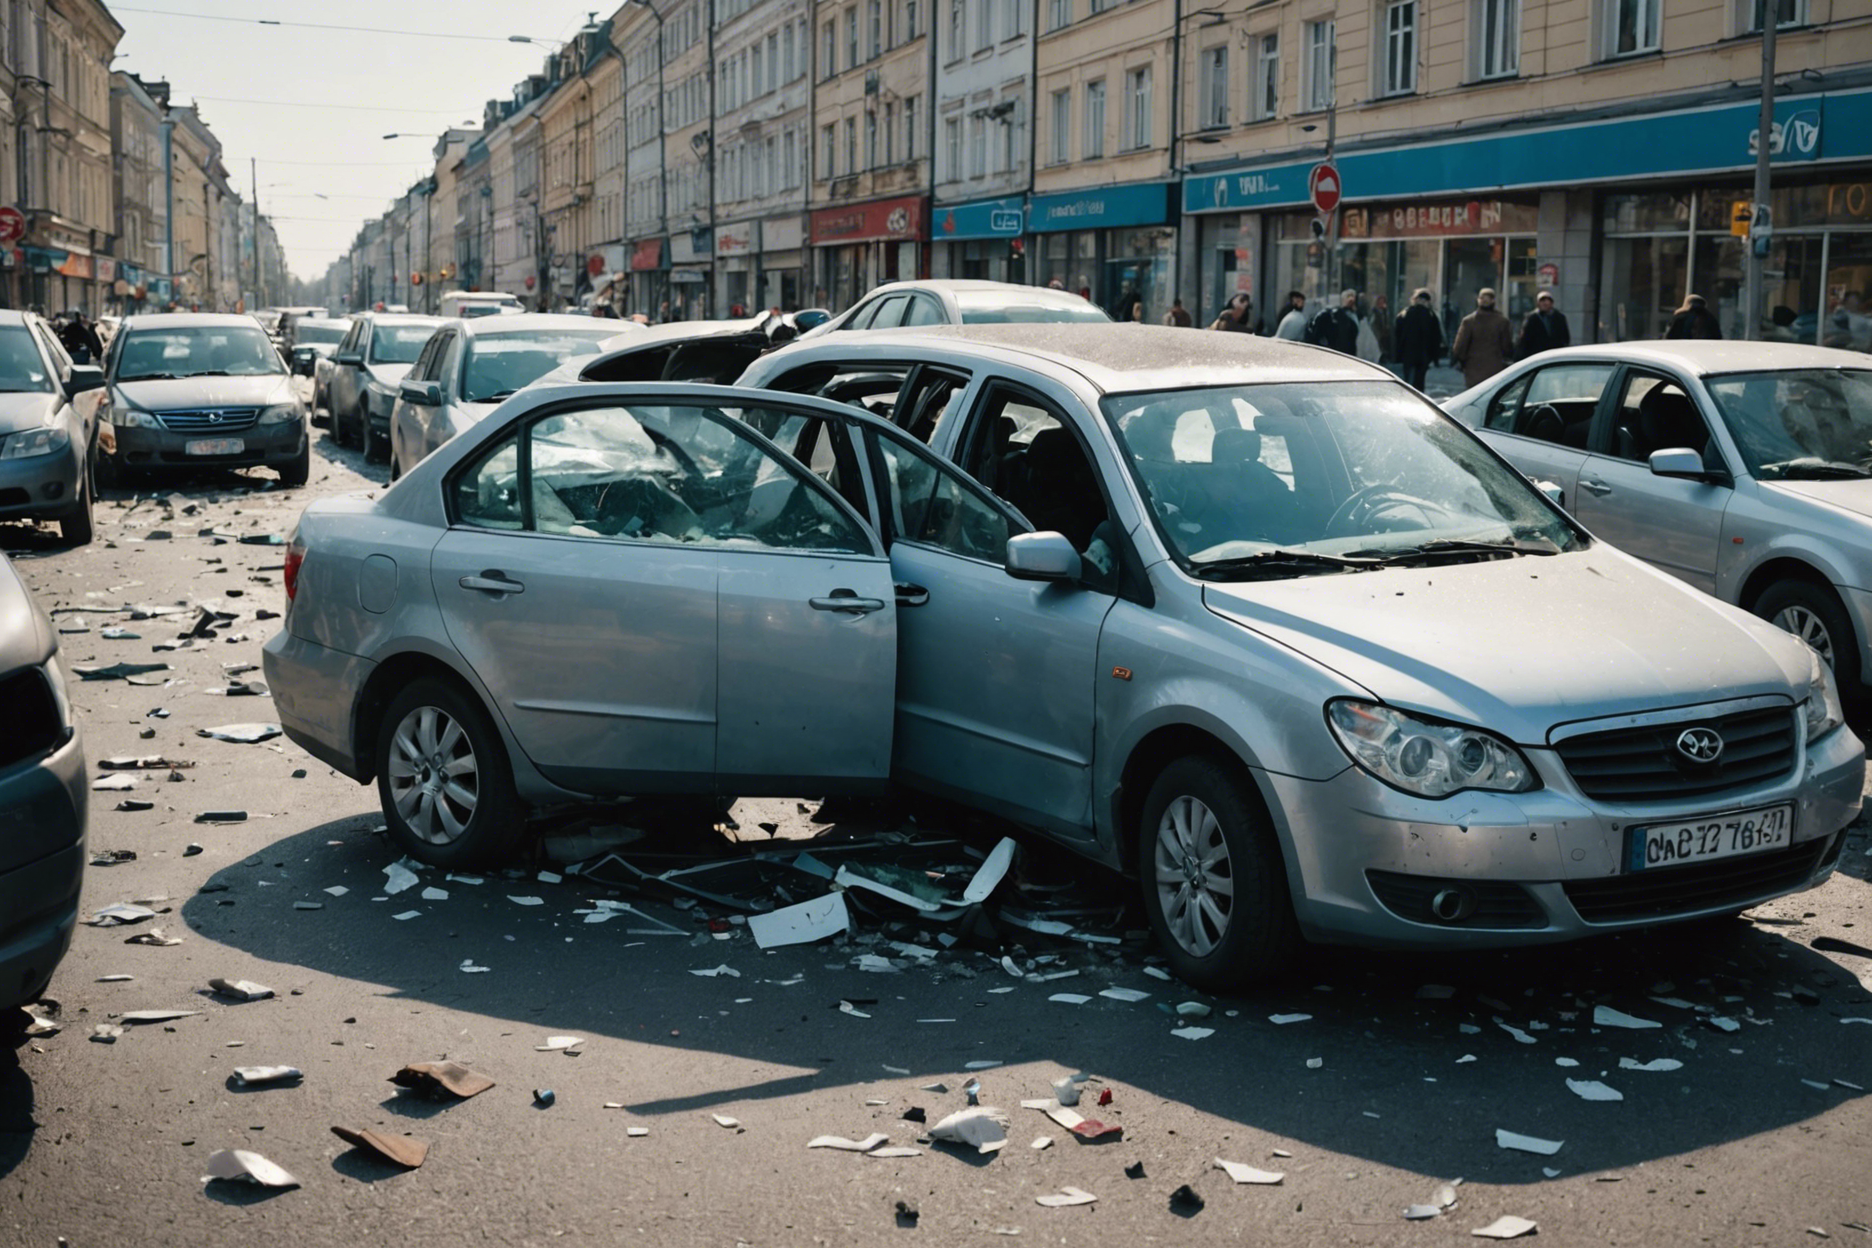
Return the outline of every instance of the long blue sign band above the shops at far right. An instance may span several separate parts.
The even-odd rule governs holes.
[[[1346,198],[1355,200],[1741,172],[1754,168],[1758,120],[1756,105],[1713,105],[1348,152],[1338,155],[1337,165]],[[1769,142],[1778,165],[1872,157],[1872,92],[1778,99]],[[1183,211],[1305,204],[1307,174],[1316,163],[1318,157],[1310,157],[1185,178]]]

